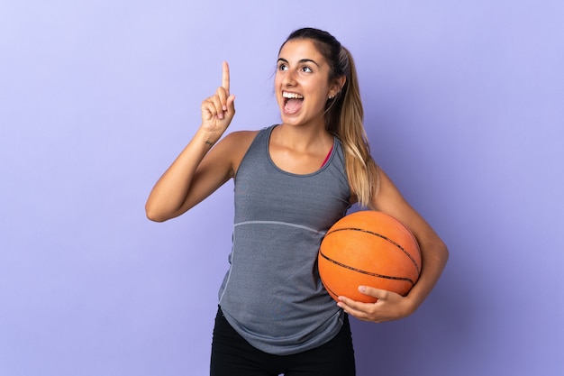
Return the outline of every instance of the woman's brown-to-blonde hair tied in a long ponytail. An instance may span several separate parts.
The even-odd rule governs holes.
[[[360,98],[359,80],[350,51],[341,46],[329,32],[304,28],[292,32],[287,41],[309,39],[331,66],[329,82],[344,76],[345,82],[336,96],[325,105],[327,131],[341,140],[345,153],[345,169],[352,193],[360,206],[368,206],[378,192],[378,166],[370,155],[364,129],[364,109]]]

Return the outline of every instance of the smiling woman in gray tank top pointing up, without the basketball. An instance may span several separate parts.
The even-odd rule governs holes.
[[[409,316],[439,279],[444,243],[372,160],[353,60],[328,32],[300,29],[278,53],[281,124],[223,133],[235,115],[223,85],[202,103],[202,124],[147,201],[165,221],[235,184],[230,268],[219,291],[212,375],[354,375],[348,316],[375,323]],[[221,139],[221,140],[220,140]],[[405,297],[360,286],[374,304],[323,289],[323,234],[354,203],[396,217],[420,244],[423,271]]]

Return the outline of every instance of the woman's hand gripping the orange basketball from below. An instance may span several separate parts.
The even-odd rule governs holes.
[[[363,303],[346,297],[339,297],[338,304],[345,312],[359,320],[381,323],[398,320],[414,313],[415,307],[409,298],[385,289],[360,286],[359,291],[369,297],[377,298],[376,303]]]

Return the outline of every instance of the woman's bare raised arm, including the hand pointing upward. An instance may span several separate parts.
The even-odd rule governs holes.
[[[202,102],[202,124],[150,192],[145,205],[150,220],[180,216],[233,176],[237,136],[218,142],[235,115],[229,85],[229,66],[223,62],[222,86]]]

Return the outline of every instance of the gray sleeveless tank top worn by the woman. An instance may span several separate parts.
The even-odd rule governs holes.
[[[219,304],[232,327],[266,353],[301,353],[341,329],[342,311],[319,279],[317,252],[350,207],[341,142],[320,170],[296,175],[270,159],[262,129],[235,176],[230,269]]]

